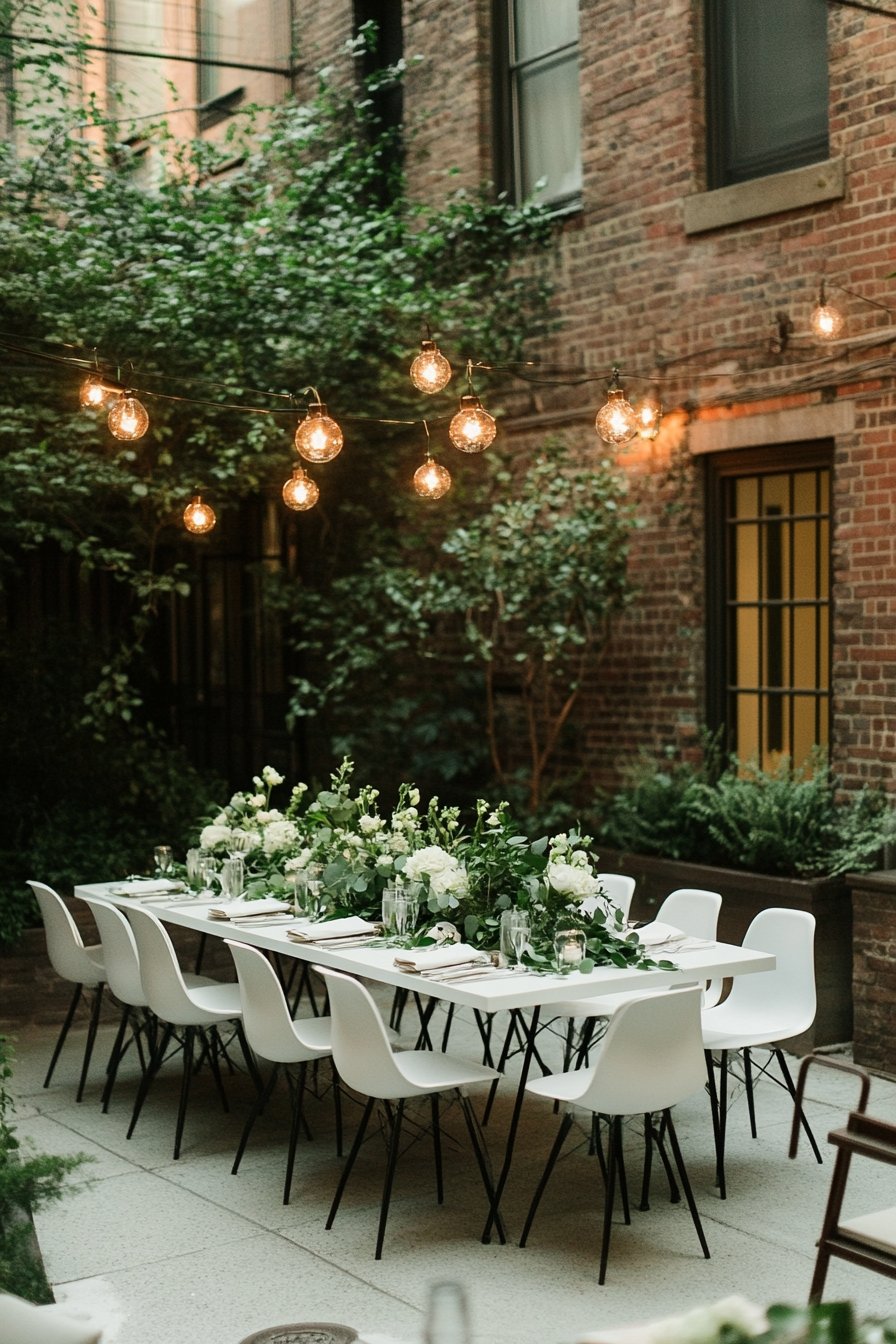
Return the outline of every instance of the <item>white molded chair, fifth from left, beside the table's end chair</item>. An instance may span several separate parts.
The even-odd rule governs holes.
[[[394,1054],[383,1019],[365,985],[351,976],[344,976],[339,970],[325,970],[322,966],[318,966],[317,970],[326,981],[329,993],[333,1063],[343,1082],[368,1098],[355,1142],[352,1144],[352,1150],[348,1154],[345,1168],[336,1187],[326,1227],[330,1228],[333,1226],[348,1177],[364,1142],[364,1134],[373,1113],[373,1106],[377,1101],[382,1101],[391,1129],[380,1220],[376,1234],[376,1259],[382,1259],[406,1101],[411,1097],[430,1098],[433,1148],[435,1154],[435,1192],[441,1204],[442,1141],[438,1098],[439,1093],[443,1091],[454,1091],[457,1094],[489,1207],[492,1207],[494,1191],[489,1175],[488,1154],[476,1113],[463,1089],[476,1086],[477,1083],[490,1085],[500,1075],[494,1068],[488,1068],[485,1064],[467,1063],[467,1060],[457,1059],[453,1055],[443,1055],[438,1051],[404,1050]],[[392,1102],[396,1105],[392,1106]],[[504,1242],[504,1227],[500,1219],[496,1219],[496,1226],[498,1236]]]

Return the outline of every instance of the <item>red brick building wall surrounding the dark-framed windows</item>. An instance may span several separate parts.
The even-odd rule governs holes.
[[[633,539],[639,597],[618,625],[582,719],[588,773],[611,782],[638,745],[689,741],[705,716],[703,468],[732,448],[827,441],[833,499],[833,759],[848,786],[889,782],[896,761],[896,449],[892,340],[896,320],[845,298],[836,347],[810,340],[818,280],[893,302],[892,214],[896,23],[830,4],[830,160],[802,169],[810,195],[842,172],[842,194],[763,212],[763,179],[739,222],[686,231],[707,190],[703,20],[686,0],[580,3],[582,208],[563,226],[556,309],[562,328],[537,353],[595,382],[544,388],[541,414],[502,431],[524,448],[575,435],[583,456],[606,372],[630,378],[660,363],[669,410],[660,438],[623,450],[645,527]],[[348,31],[352,7],[302,7],[309,59]],[[438,196],[492,176],[490,23],[485,0],[403,5],[411,183]],[[301,90],[300,90],[301,91]],[[447,176],[457,169],[457,176]],[[807,176],[806,176],[807,175]],[[833,175],[833,179],[832,176]],[[708,192],[707,196],[717,194]],[[705,199],[705,198],[704,198]],[[712,202],[711,202],[712,206]],[[783,353],[771,351],[780,321]],[[488,358],[488,351],[482,352]],[[637,388],[634,388],[637,390]]]

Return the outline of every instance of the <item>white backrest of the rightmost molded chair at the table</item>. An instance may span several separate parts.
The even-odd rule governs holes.
[[[719,1012],[750,1013],[774,1028],[770,1040],[786,1040],[815,1020],[815,917],[807,910],[770,906],[755,915],[744,948],[771,952],[775,969],[735,976]]]

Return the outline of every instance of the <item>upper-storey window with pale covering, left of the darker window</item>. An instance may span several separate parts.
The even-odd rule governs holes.
[[[557,208],[582,194],[578,0],[496,0],[496,180]]]

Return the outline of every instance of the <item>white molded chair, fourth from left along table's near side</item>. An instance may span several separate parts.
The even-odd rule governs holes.
[[[328,1059],[333,1054],[330,1048],[330,1020],[329,1017],[294,1020],[286,1003],[283,986],[277,978],[277,972],[267,957],[257,948],[250,948],[244,942],[235,942],[232,938],[224,938],[224,942],[230,948],[234,965],[236,966],[246,1039],[257,1055],[274,1064],[270,1078],[263,1091],[258,1094],[258,1099],[246,1121],[231,1175],[235,1176],[239,1171],[253,1125],[267,1105],[267,1099],[274,1090],[282,1068],[286,1073],[293,1102],[293,1124],[289,1133],[289,1156],[286,1159],[286,1181],[283,1184],[283,1203],[289,1204],[293,1167],[296,1164],[296,1144],[304,1120],[302,1101],[305,1097],[308,1064],[316,1059]],[[289,1064],[298,1064],[297,1078],[293,1078],[290,1074]],[[336,1109],[336,1152],[341,1157],[343,1116],[336,1077],[333,1077],[333,1105]]]

